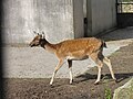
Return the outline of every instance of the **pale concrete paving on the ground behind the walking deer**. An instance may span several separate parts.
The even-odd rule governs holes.
[[[125,35],[129,35],[129,37]],[[104,48],[105,56],[111,55],[122,46],[126,46],[133,41],[133,29],[123,29],[111,32],[103,38],[116,38],[114,35],[120,35],[117,41],[106,42],[108,48]],[[120,40],[121,38],[121,40]],[[47,53],[41,47],[3,47],[4,51],[4,77],[11,78],[49,78],[51,77],[58,59],[54,55]],[[73,62],[73,76],[83,74],[95,64],[90,61]],[[69,77],[69,69],[66,63],[57,74],[57,77]]]

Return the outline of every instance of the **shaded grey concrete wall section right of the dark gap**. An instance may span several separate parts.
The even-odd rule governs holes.
[[[88,36],[116,25],[115,0],[88,0]]]

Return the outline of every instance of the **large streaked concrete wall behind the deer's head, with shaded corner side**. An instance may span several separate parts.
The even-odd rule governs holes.
[[[51,43],[81,37],[82,7],[82,0],[4,0],[4,42],[29,43],[32,31],[44,31]]]

